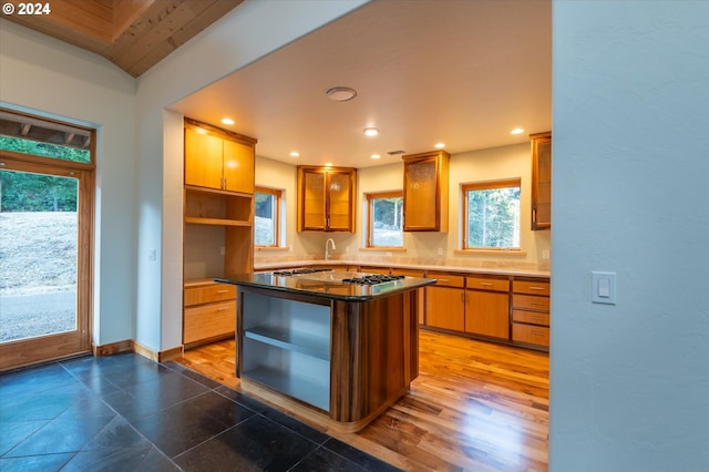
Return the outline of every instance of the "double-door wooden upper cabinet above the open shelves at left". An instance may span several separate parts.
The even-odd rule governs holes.
[[[185,119],[185,185],[254,193],[256,140]]]

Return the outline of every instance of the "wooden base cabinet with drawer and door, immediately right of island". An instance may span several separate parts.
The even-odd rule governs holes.
[[[435,285],[425,287],[425,326],[465,330],[465,277],[445,273],[427,273]]]

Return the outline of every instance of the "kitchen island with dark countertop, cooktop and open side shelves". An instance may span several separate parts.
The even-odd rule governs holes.
[[[405,394],[419,372],[417,291],[435,280],[372,277],[288,270],[216,278],[237,286],[242,387],[342,432]]]

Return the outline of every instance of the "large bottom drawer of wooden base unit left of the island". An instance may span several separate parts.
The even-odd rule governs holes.
[[[236,301],[202,305],[185,308],[185,345],[201,339],[226,336],[235,331]]]

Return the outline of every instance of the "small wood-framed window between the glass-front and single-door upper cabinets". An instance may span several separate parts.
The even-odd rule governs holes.
[[[403,192],[367,194],[367,247],[403,247]]]

